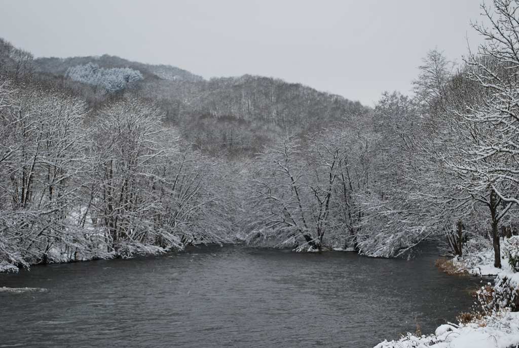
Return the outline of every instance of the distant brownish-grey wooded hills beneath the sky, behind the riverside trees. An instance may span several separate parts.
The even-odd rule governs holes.
[[[37,63],[42,74],[54,80],[62,79],[69,69],[90,72],[95,65],[106,71],[123,67],[138,70],[144,79],[126,85],[125,92],[155,103],[164,113],[165,122],[176,127],[194,147],[211,154],[253,157],[280,136],[308,135],[365,112],[359,102],[273,78],[245,75],[207,81],[179,68],[108,55],[39,58]],[[77,90],[91,106],[110,98],[95,84],[88,87],[70,79],[62,83]]]

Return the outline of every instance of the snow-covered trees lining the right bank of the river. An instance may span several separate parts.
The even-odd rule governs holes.
[[[519,232],[518,5],[483,9],[487,44],[461,65],[428,52],[412,98],[386,92],[258,155],[248,240],[388,257],[440,238],[460,256],[493,247],[501,267],[500,238]]]

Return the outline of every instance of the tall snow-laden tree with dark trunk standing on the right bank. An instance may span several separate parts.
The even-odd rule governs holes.
[[[495,0],[494,9],[482,9],[490,25],[473,27],[486,44],[469,54],[467,68],[447,85],[443,129],[449,137],[443,138],[449,144],[443,157],[457,176],[459,197],[489,208],[495,266],[500,267],[498,224],[519,203],[519,3]]]

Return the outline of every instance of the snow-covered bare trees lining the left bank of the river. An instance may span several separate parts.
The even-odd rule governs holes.
[[[2,48],[1,270],[233,241],[223,159],[185,146],[146,101],[90,108]]]

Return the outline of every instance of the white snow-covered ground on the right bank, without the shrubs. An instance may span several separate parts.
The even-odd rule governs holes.
[[[519,273],[513,273],[508,260],[501,260],[502,269],[494,267],[494,251],[491,248],[471,250],[463,258],[455,258],[454,265],[471,275],[496,275],[507,280],[507,286],[519,289]],[[398,341],[384,341],[375,348],[519,348],[519,312],[509,308],[488,311],[468,324],[441,325],[434,335],[416,336],[407,333]]]

